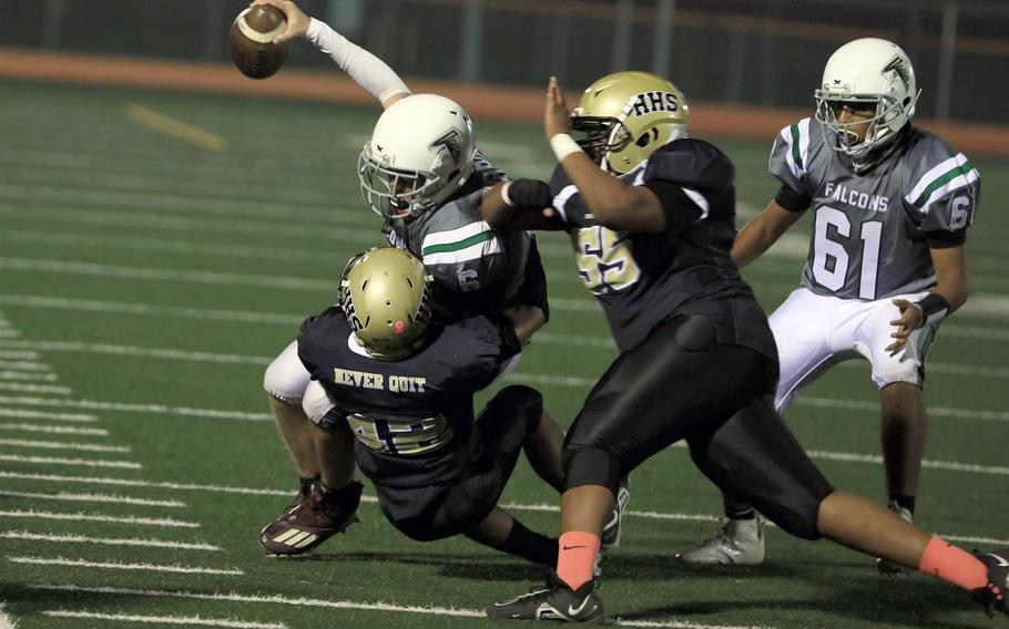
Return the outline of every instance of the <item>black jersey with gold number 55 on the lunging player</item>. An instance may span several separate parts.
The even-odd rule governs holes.
[[[776,357],[766,317],[728,257],[735,238],[728,157],[706,142],[676,140],[621,179],[655,193],[666,231],[608,229],[589,212],[562,167],[550,182],[579,275],[602,303],[621,351],[670,317],[702,313],[715,322],[718,342]]]

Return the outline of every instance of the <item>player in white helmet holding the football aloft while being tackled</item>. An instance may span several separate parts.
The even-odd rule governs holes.
[[[360,189],[386,220],[390,244],[420,257],[434,277],[436,318],[450,321],[504,312],[520,322],[523,338],[546,323],[546,276],[534,239],[521,231],[493,230],[480,214],[482,199],[507,176],[477,149],[466,110],[445,96],[410,94],[385,62],[309,18],[294,2],[256,0],[253,4],[284,12],[287,30],[275,39],[277,43],[308,39],[383,104],[385,111],[358,159]],[[314,489],[342,496],[340,508],[329,518],[332,535],[356,518],[359,495],[350,489],[354,436],[340,425],[315,430],[302,409],[309,381],[295,341],[267,368],[264,388],[300,477],[297,502]],[[620,514],[628,497],[624,482],[622,501],[607,527],[608,546],[619,542]],[[275,522],[289,518],[285,514]],[[267,553],[300,555],[327,537],[286,548],[273,545]]]

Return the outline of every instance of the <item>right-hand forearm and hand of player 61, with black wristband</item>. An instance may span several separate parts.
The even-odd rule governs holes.
[[[895,299],[900,317],[890,321],[896,328],[894,339],[886,350],[896,353],[904,349],[911,332],[931,319],[942,319],[967,301],[970,280],[967,276],[967,257],[964,246],[930,249],[936,269],[936,288],[917,302]]]

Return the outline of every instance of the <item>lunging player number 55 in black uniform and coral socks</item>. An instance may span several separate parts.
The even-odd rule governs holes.
[[[774,337],[730,257],[733,165],[687,137],[687,120],[683,94],[654,74],[603,76],[573,113],[551,79],[544,130],[559,167],[549,185],[518,179],[483,206],[502,229],[571,235],[620,349],[564,441],[557,569],[488,616],[604,621],[592,568],[618,478],[680,440],[725,494],[782,529],[919,569],[1009,612],[1009,553],[971,555],[836,491],[774,410]]]

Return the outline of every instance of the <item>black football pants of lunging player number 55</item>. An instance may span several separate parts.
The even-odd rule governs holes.
[[[819,503],[834,488],[775,412],[777,378],[774,358],[717,343],[704,316],[660,323],[607,370],[568,431],[565,488],[603,485],[615,494],[622,476],[686,440],[725,494],[817,539]]]

